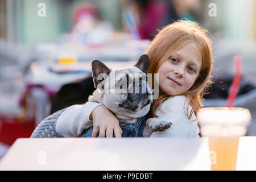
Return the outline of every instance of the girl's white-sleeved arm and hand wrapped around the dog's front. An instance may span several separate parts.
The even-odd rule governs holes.
[[[121,137],[122,130],[117,118],[102,104],[86,102],[85,105],[68,107],[57,119],[56,131],[63,137],[79,137],[82,131],[93,127],[92,137],[100,131],[100,137]],[[112,131],[112,132],[111,132]]]

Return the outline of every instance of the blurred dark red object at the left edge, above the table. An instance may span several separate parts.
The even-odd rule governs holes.
[[[20,121],[0,116],[0,142],[11,146],[18,138],[30,138],[35,130],[35,120]]]

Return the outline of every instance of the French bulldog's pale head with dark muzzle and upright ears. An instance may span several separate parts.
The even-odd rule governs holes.
[[[147,83],[150,59],[142,55],[133,67],[109,69],[99,60],[92,61],[94,86],[89,101],[103,103],[123,118],[138,118],[147,114],[152,103],[152,91]]]

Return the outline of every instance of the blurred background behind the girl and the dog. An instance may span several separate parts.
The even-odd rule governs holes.
[[[0,158],[61,101],[75,100],[81,88],[71,84],[90,77],[90,61],[134,64],[157,30],[178,19],[212,34],[215,84],[205,106],[225,106],[241,55],[234,106],[251,111],[246,135],[256,135],[256,0],[0,0]]]

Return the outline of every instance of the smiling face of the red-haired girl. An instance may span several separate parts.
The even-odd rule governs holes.
[[[187,92],[199,75],[201,65],[201,54],[193,44],[172,53],[158,70],[159,95],[175,96]]]

